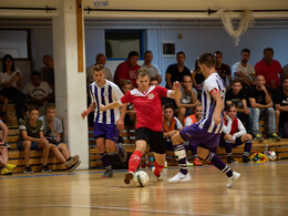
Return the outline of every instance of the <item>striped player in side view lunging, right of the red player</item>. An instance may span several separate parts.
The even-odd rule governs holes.
[[[240,174],[233,172],[214,152],[219,144],[223,130],[222,111],[225,99],[225,84],[215,70],[215,60],[210,53],[204,53],[199,58],[199,66],[204,76],[204,90],[202,94],[203,117],[196,124],[184,127],[172,136],[175,155],[179,164],[179,172],[168,182],[185,182],[191,179],[186,165],[186,152],[182,143],[189,141],[199,144],[197,152],[199,157],[210,162],[228,177],[227,187],[235,185]]]

